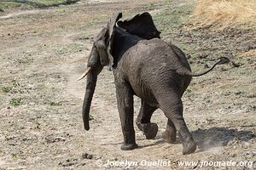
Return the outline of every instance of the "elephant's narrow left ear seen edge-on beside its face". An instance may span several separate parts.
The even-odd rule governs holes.
[[[113,66],[113,55],[112,55],[112,49],[113,49],[113,37],[114,37],[114,29],[116,26],[116,22],[122,18],[122,13],[118,13],[118,14],[113,14],[113,17],[109,20],[108,22],[108,32],[106,37],[108,38],[108,69],[111,70],[112,66]]]

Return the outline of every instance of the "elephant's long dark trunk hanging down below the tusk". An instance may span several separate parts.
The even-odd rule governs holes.
[[[87,75],[87,81],[86,81],[86,90],[84,94],[84,103],[83,103],[83,109],[82,109],[82,116],[84,121],[84,129],[89,130],[89,113],[90,113],[90,104],[91,100],[96,88],[96,81],[97,81],[97,69],[94,68],[90,73]]]

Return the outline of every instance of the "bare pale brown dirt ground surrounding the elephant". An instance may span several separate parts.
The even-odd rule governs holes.
[[[0,169],[125,169],[109,161],[170,161],[167,166],[130,169],[253,169],[256,161],[255,30],[191,30],[185,24],[193,2],[85,1],[46,9],[16,10],[0,16]],[[149,11],[161,37],[177,44],[193,71],[218,56],[234,62],[196,77],[183,95],[184,118],[198,149],[183,156],[182,144],[161,137],[166,117],[155,111],[156,139],[136,127],[137,150],[120,150],[122,133],[113,73],[98,77],[91,106],[90,131],[84,131],[81,107],[83,73],[92,38],[108,18]],[[166,16],[169,16],[166,19]],[[140,101],[135,99],[135,116]],[[181,166],[181,161],[245,162],[235,167]],[[251,163],[250,163],[251,162]],[[249,164],[248,164],[249,163]],[[253,163],[253,165],[252,165]]]

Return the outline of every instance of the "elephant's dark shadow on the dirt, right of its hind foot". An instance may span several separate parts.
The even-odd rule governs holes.
[[[226,145],[246,142],[256,137],[252,131],[239,131],[229,127],[198,128],[192,132],[198,152]]]

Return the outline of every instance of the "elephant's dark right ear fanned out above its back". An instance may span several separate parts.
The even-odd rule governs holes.
[[[143,39],[160,38],[161,32],[154,26],[152,16],[148,12],[137,14],[131,20],[119,21],[117,24],[130,34],[137,35]]]

